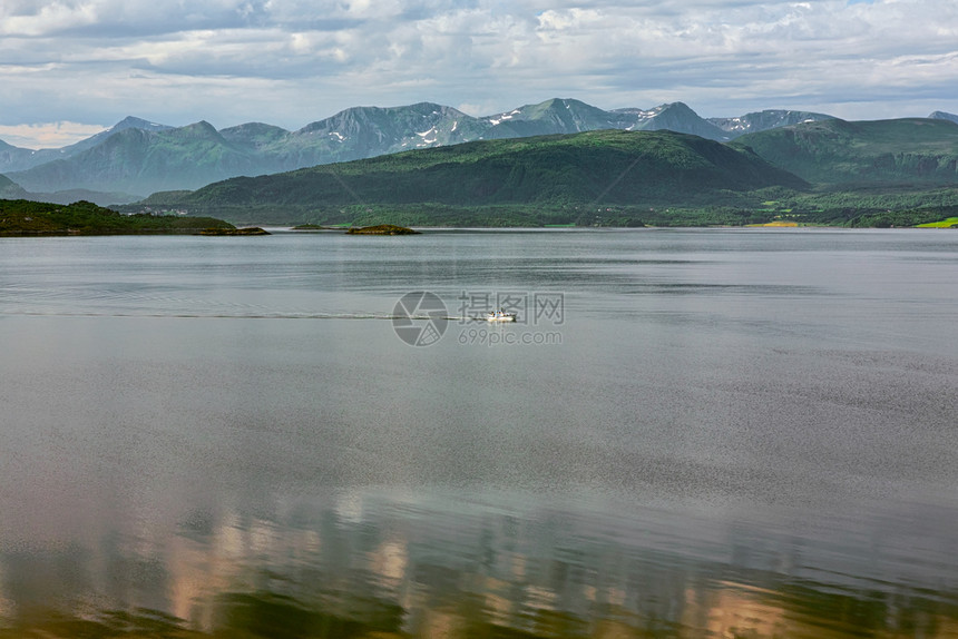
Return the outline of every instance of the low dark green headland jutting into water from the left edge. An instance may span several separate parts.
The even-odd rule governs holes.
[[[0,199],[0,236],[182,234],[205,228],[233,225],[208,217],[120,215],[89,201],[63,206]]]

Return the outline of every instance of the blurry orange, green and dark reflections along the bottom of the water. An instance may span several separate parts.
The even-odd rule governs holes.
[[[677,550],[687,514],[617,527],[452,502],[342,492],[6,552],[0,637],[958,636],[954,584],[851,578],[808,535],[703,519]]]

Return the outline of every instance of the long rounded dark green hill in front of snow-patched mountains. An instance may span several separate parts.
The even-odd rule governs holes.
[[[808,185],[749,150],[672,131],[605,130],[483,140],[242,177],[141,204],[261,222],[350,205],[669,206],[737,203],[754,189]],[[170,197],[176,195],[180,197]]]

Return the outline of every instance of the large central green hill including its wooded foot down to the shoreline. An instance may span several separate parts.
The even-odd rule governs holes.
[[[657,209],[743,207],[809,188],[747,148],[669,130],[606,129],[476,140],[236,177],[195,191],[156,193],[120,209],[267,225],[593,225],[597,216],[603,224],[615,216],[614,225],[636,225],[648,215],[658,220]],[[735,212],[723,223],[751,217]]]

